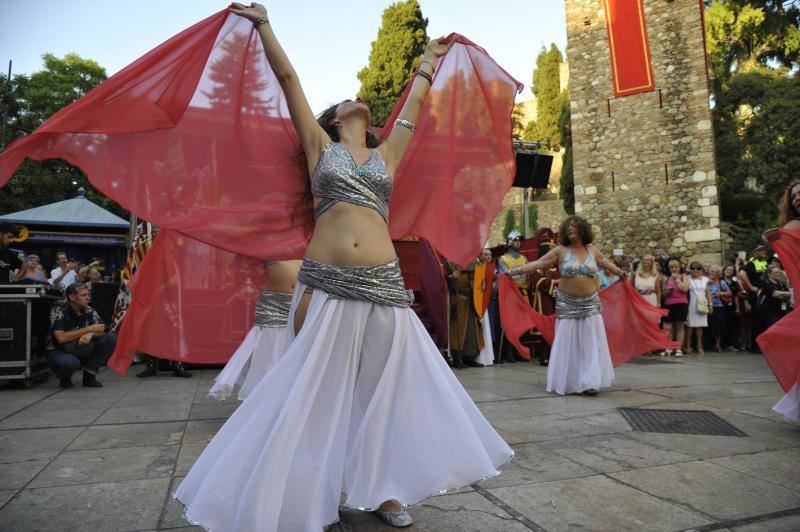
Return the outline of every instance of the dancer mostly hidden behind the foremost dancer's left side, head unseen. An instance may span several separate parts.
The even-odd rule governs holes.
[[[265,263],[267,281],[256,302],[253,327],[214,379],[209,397],[224,401],[239,386],[239,399],[244,400],[283,355],[294,337],[287,323],[300,264],[299,260]]]

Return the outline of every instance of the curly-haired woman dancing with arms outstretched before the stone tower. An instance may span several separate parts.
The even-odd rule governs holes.
[[[569,216],[559,228],[560,245],[540,259],[512,269],[522,275],[558,265],[556,335],[547,367],[547,391],[559,395],[597,395],[611,386],[614,368],[608,350],[600,296],[598,266],[624,279],[623,272],[592,245],[592,227],[580,216]]]

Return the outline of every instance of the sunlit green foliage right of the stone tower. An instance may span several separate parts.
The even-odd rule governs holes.
[[[706,4],[722,218],[740,226],[749,247],[775,225],[779,196],[800,173],[800,6]]]

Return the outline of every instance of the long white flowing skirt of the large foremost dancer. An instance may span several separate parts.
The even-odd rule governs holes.
[[[300,333],[175,497],[209,530],[318,532],[342,495],[418,504],[512,457],[411,309],[314,290]]]

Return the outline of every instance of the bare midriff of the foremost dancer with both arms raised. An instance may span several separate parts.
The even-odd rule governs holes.
[[[371,266],[397,256],[389,228],[369,207],[340,201],[314,225],[306,257],[336,266]]]

